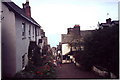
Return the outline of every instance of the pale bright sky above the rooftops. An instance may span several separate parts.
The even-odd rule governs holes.
[[[12,0],[22,8],[26,0]],[[118,0],[29,0],[32,17],[44,29],[51,47],[58,45],[67,28],[97,28],[98,21],[118,20]],[[107,15],[109,13],[109,15]]]

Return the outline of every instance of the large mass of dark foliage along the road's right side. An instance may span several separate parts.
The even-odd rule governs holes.
[[[119,28],[118,26],[96,30],[85,38],[85,50],[76,56],[85,66],[100,65],[118,76],[119,71]]]

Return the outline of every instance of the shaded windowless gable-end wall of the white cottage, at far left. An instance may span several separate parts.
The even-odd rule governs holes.
[[[15,16],[2,4],[2,76],[12,77],[16,72]]]

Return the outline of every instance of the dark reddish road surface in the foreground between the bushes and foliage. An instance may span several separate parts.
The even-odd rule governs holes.
[[[99,79],[102,78],[95,74],[92,71],[85,71],[85,70],[80,70],[78,67],[74,65],[74,63],[67,63],[67,64],[62,64],[62,67],[57,66],[56,68],[56,75],[58,79],[80,79],[80,78],[85,78],[85,79]]]

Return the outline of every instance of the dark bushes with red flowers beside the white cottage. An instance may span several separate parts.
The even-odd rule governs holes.
[[[34,55],[29,59],[25,70],[18,72],[15,78],[55,78],[53,58],[46,47],[45,50],[43,54],[46,56],[42,56],[39,47],[36,46],[33,50]]]

